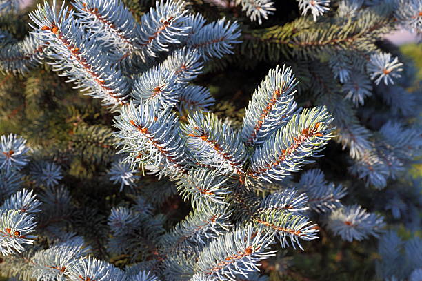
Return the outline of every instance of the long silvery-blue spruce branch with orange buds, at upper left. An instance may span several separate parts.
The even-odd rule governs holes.
[[[86,94],[101,98],[104,105],[127,103],[128,84],[119,70],[108,61],[95,40],[89,39],[79,21],[74,19],[74,10],[67,14],[68,7],[61,6],[58,13],[47,3],[30,13],[34,21],[34,34],[47,42],[53,53],[53,70],[70,76],[77,88],[88,90]]]

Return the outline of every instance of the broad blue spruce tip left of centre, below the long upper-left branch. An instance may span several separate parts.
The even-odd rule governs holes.
[[[156,104],[140,100],[138,107],[130,102],[115,118],[116,136],[120,142],[119,153],[128,153],[125,161],[145,165],[157,172],[163,167],[172,167],[179,173],[188,171],[188,161],[179,136],[177,116],[168,110],[160,111]]]

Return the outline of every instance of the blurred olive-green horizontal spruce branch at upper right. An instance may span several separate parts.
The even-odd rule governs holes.
[[[339,50],[353,50],[369,58],[378,50],[376,40],[390,32],[393,23],[392,17],[372,10],[364,10],[355,21],[313,23],[301,17],[283,26],[245,30],[241,52],[267,61],[279,61],[285,56],[321,59],[323,54],[335,54]]]

